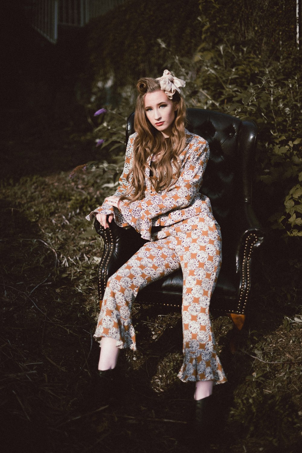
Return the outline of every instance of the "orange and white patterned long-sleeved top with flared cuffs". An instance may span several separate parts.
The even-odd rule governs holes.
[[[133,143],[136,137],[136,132],[129,137],[123,173],[119,178],[119,187],[114,196],[121,197],[130,186],[131,175],[130,181],[126,178],[132,169]],[[104,202],[102,206],[90,212],[86,219],[91,220],[97,213],[113,213],[118,226],[133,226],[143,239],[151,241],[152,226],[171,225],[200,214],[213,218],[209,198],[199,193],[210,154],[208,142],[186,129],[185,137],[186,146],[179,155],[181,161],[179,178],[172,186],[156,192],[151,185],[149,178],[153,156],[151,154],[145,169],[145,198],[133,202],[123,200],[121,212]]]

